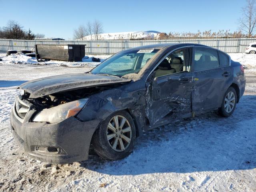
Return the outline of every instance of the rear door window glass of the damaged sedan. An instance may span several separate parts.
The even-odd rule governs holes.
[[[195,47],[194,71],[217,68],[220,66],[217,50]]]

